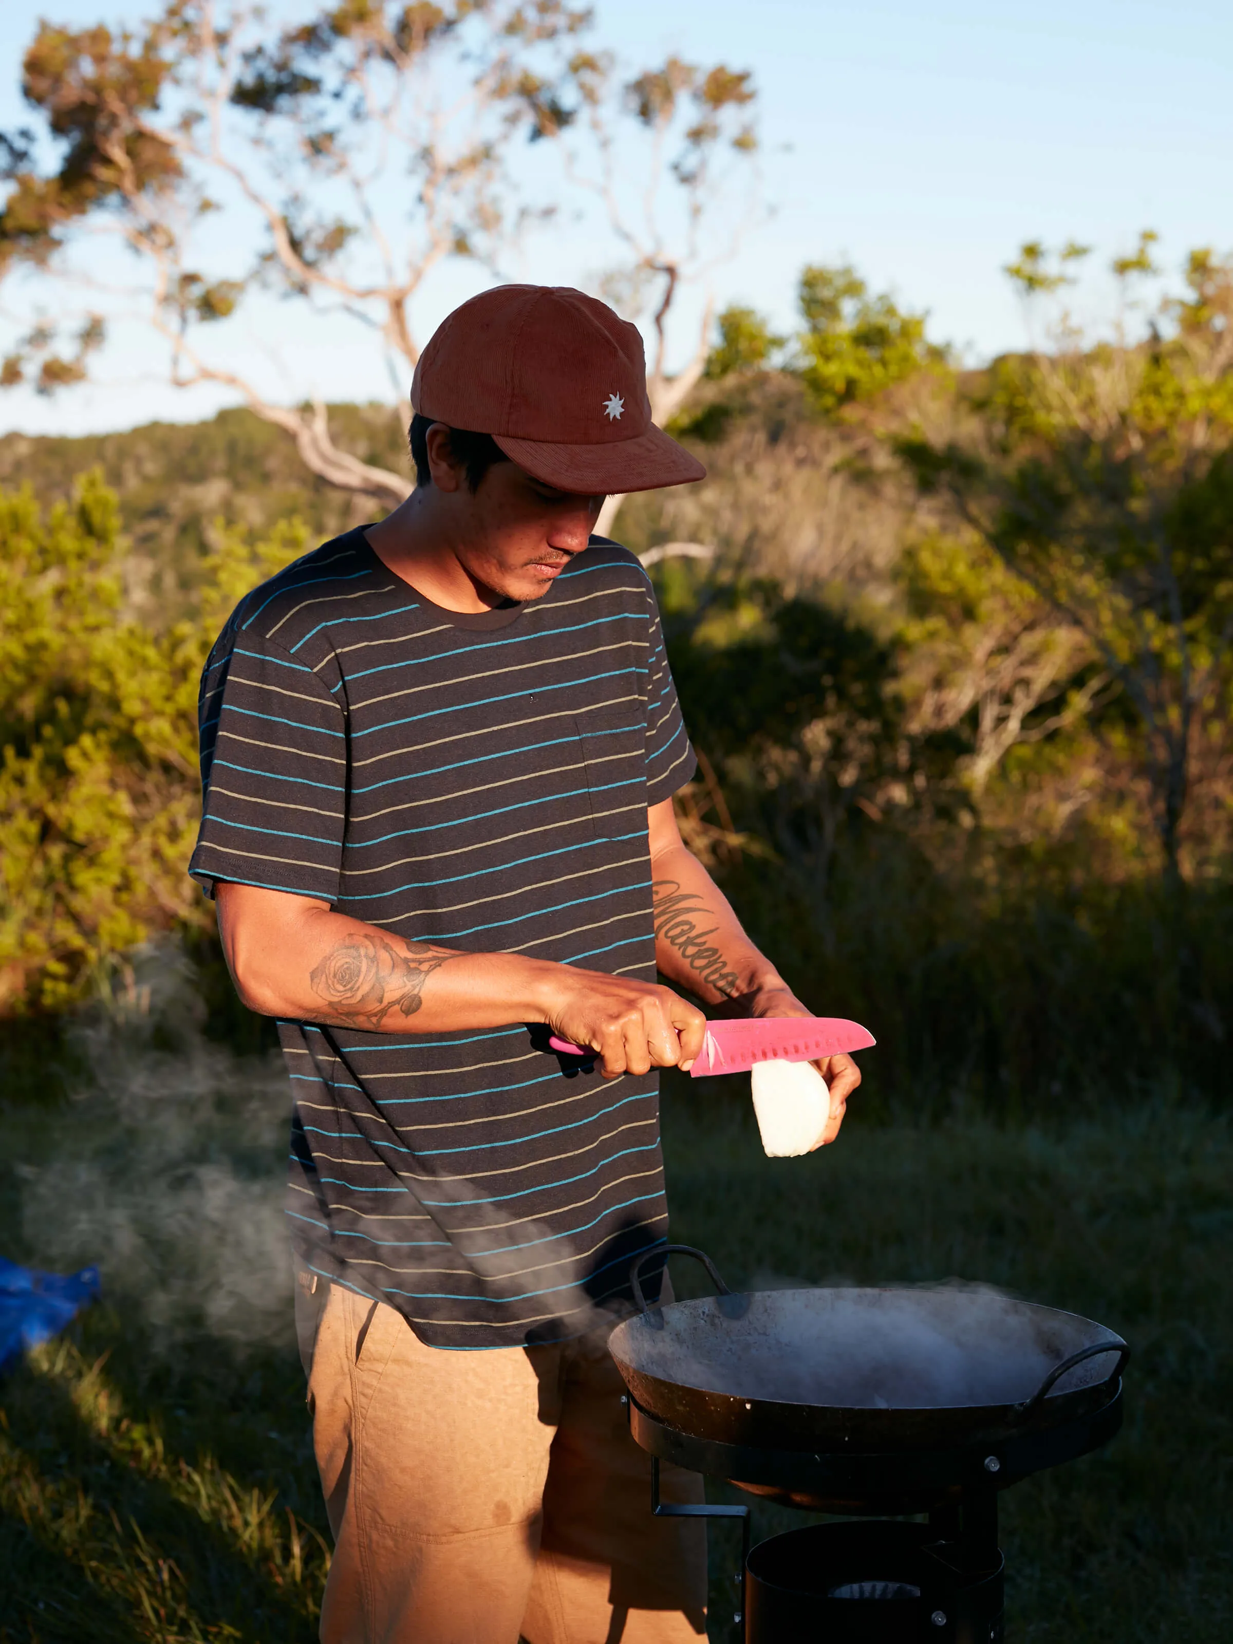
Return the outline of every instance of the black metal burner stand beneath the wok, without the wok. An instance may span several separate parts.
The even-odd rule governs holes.
[[[695,1438],[628,1404],[633,1437],[653,1458],[651,1511],[741,1521],[733,1626],[743,1644],[1001,1644],[998,1491],[1100,1448],[1121,1427],[1120,1384],[1095,1414],[1046,1432],[880,1455]],[[853,1517],[773,1535],[750,1550],[748,1508],[659,1499],[661,1460],[807,1511]],[[927,1522],[886,1514],[927,1514]]]

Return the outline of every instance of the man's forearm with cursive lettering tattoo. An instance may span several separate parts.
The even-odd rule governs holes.
[[[705,1004],[784,988],[774,965],[741,931],[728,899],[684,845],[651,858],[654,957],[669,981]]]

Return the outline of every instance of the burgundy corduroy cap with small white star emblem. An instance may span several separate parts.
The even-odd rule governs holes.
[[[651,421],[638,327],[572,286],[498,286],[454,309],[419,357],[411,404],[492,434],[562,492],[651,492],[707,473]]]

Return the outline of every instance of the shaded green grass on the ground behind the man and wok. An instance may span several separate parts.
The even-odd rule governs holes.
[[[97,1065],[89,1098],[0,1113],[0,1249],[100,1258],[109,1295],[0,1383],[0,1641],[309,1644],[329,1555],[276,1251],[284,1087],[148,1044]],[[1008,1636],[1233,1636],[1223,1118],[853,1115],[840,1146],[768,1161],[746,1103],[686,1085],[664,1143],[672,1235],[730,1282],[960,1276],[1126,1335],[1123,1434],[1003,1498]],[[755,1506],[756,1534],[799,1522]]]

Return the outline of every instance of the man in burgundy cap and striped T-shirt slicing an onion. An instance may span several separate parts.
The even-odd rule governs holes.
[[[656,965],[809,1014],[681,843],[654,595],[592,536],[607,492],[704,469],[579,291],[465,302],[413,404],[414,493],[250,593],[202,681],[192,873],[294,1090],[321,1636],[684,1644],[700,1527],[651,1516],[605,1350],[666,1238],[654,1070],[705,1024]],[[819,1065],[822,1143],[860,1075]]]

